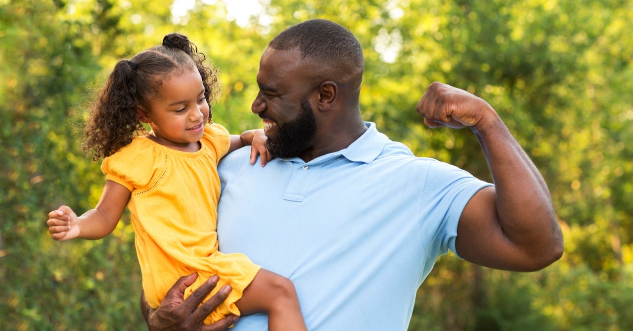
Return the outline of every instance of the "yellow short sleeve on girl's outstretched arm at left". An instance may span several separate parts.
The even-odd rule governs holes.
[[[146,187],[156,168],[160,168],[160,160],[154,153],[157,151],[147,144],[144,138],[136,138],[120,151],[103,159],[101,172],[106,180],[125,186],[130,192],[139,187]],[[164,166],[164,165],[163,165]]]

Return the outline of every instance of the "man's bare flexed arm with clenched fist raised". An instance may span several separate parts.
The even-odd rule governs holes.
[[[461,214],[456,250],[472,263],[515,271],[540,270],[563,254],[563,237],[541,173],[483,99],[435,82],[418,103],[431,127],[470,127],[495,187],[479,190]]]

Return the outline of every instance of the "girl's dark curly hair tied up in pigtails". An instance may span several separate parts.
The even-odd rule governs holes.
[[[172,33],[165,35],[162,46],[118,61],[92,104],[82,150],[97,161],[116,153],[137,135],[146,134],[137,115],[139,106],[148,109],[149,101],[158,94],[163,80],[191,66],[196,66],[200,73],[204,97],[211,103],[220,90],[217,69],[204,65],[205,59],[185,35]]]

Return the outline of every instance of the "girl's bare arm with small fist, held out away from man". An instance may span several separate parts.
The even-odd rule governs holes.
[[[48,231],[55,240],[101,239],[115,229],[129,200],[130,191],[125,186],[106,180],[94,209],[77,216],[70,207],[61,206],[48,213]]]

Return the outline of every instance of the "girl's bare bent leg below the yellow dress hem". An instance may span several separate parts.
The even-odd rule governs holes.
[[[270,331],[308,330],[294,284],[277,273],[261,269],[235,304],[242,315],[268,314]]]

